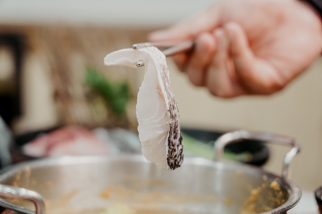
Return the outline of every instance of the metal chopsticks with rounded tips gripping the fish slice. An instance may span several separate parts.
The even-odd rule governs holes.
[[[162,50],[163,54],[165,56],[172,56],[182,51],[187,51],[189,49],[192,49],[194,47],[194,42],[191,40],[187,40],[180,43],[174,43],[174,42],[144,42],[144,43],[137,43],[132,45],[133,49],[139,49],[142,47],[150,47],[154,46]],[[144,65],[144,62],[142,60],[137,62],[137,67],[141,67]]]

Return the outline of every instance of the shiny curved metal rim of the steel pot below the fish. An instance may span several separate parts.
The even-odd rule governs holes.
[[[64,166],[64,165],[73,165],[73,164],[85,164],[85,163],[95,163],[95,162],[103,162],[103,161],[133,161],[133,162],[151,162],[147,161],[141,154],[122,154],[117,156],[62,156],[62,157],[54,157],[54,158],[43,158],[32,161],[26,161],[23,163],[18,163],[12,166],[8,166],[0,170],[0,183],[4,181],[6,178],[16,175],[18,172],[23,171],[26,167],[39,168],[44,166]],[[152,162],[151,162],[152,163]],[[278,214],[283,213],[292,207],[294,207],[302,196],[302,192],[297,184],[290,181],[289,179],[284,179],[282,176],[275,175],[273,173],[267,172],[260,167],[250,166],[243,163],[236,162],[218,162],[212,159],[200,158],[200,157],[185,157],[184,164],[192,164],[199,166],[208,166],[213,168],[226,168],[235,171],[241,171],[242,173],[251,174],[257,177],[263,177],[266,175],[268,178],[277,180],[278,183],[285,188],[289,193],[288,200],[282,204],[281,206],[263,212],[262,214]],[[10,209],[13,205],[4,199],[0,198],[0,206]],[[34,213],[34,212],[33,212]]]

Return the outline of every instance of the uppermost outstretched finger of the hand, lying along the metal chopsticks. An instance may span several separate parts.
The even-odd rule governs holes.
[[[178,22],[165,30],[158,30],[150,33],[149,41],[182,41],[194,39],[197,34],[205,31],[212,31],[220,25],[221,3],[217,2],[206,11],[189,19]]]

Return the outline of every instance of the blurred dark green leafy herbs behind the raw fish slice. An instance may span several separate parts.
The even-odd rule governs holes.
[[[86,83],[92,86],[104,98],[116,115],[126,113],[129,101],[129,86],[127,82],[112,83],[95,69],[87,69]]]

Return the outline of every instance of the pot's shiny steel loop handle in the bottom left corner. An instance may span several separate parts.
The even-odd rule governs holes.
[[[9,185],[0,184],[0,200],[2,201],[2,206],[6,209],[14,210],[19,213],[25,213],[25,214],[45,214],[45,202],[43,199],[43,196],[41,194],[20,188],[20,187],[14,187]],[[19,199],[19,200],[25,200],[25,201],[32,201],[35,204],[36,211],[31,211],[28,209],[25,209],[23,207],[15,206],[12,203],[9,203],[2,199],[2,197],[5,198],[11,198],[11,199]]]

